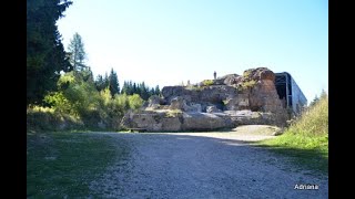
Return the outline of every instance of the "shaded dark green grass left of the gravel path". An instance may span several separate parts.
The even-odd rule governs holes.
[[[106,136],[90,133],[27,134],[27,197],[97,197],[89,184],[126,155]]]

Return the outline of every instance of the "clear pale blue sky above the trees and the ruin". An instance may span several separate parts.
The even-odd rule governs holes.
[[[58,21],[78,32],[97,76],[149,86],[266,66],[288,72],[308,103],[328,90],[327,0],[73,0]]]

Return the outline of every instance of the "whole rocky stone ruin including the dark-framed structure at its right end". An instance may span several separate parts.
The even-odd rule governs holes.
[[[266,67],[229,74],[186,86],[165,86],[121,125],[148,132],[215,130],[239,125],[285,126],[306,98],[292,76]]]

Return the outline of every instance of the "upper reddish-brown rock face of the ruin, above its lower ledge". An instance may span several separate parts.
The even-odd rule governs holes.
[[[165,86],[162,90],[169,103],[176,96],[191,103],[201,104],[202,112],[207,106],[216,106],[221,111],[252,109],[254,112],[281,112],[282,102],[274,85],[275,74],[266,67],[246,70],[243,76],[225,75],[214,80],[210,86],[185,87]]]

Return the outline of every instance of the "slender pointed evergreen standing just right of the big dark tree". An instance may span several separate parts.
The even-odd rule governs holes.
[[[78,32],[75,32],[73,38],[70,40],[68,51],[70,54],[70,63],[75,71],[84,71],[88,69],[88,66],[84,64],[87,59],[84,43]]]

